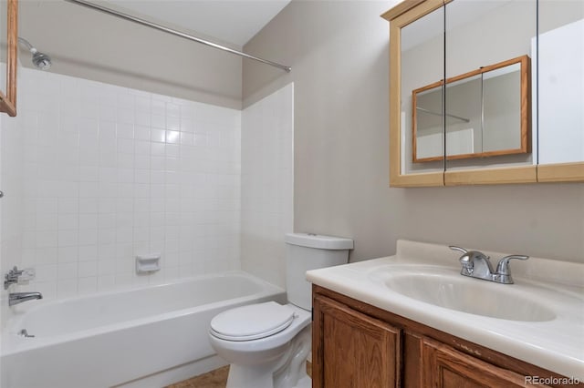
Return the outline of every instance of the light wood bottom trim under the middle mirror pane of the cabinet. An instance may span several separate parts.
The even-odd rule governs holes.
[[[444,184],[459,185],[495,185],[509,183],[537,182],[536,166],[501,167],[485,169],[446,170]]]

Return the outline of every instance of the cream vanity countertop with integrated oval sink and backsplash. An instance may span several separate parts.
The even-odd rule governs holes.
[[[504,252],[485,252],[498,259]],[[345,295],[584,381],[584,264],[514,261],[514,284],[461,275],[446,245],[399,240],[396,255],[307,272]]]

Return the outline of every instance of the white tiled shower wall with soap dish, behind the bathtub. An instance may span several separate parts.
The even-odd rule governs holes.
[[[45,298],[239,269],[241,112],[19,68],[2,272]],[[136,255],[162,270],[135,273]]]

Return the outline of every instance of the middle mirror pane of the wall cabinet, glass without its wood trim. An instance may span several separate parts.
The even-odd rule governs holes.
[[[464,147],[448,154],[446,170],[533,166],[528,58],[537,34],[537,1],[454,0],[445,9],[448,83],[459,75],[482,74],[464,86],[446,87],[446,113],[470,120],[447,121],[446,144],[452,138]],[[521,71],[503,69],[509,58],[520,57],[527,60]]]

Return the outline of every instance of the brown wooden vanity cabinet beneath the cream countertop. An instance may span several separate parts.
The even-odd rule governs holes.
[[[525,376],[564,378],[316,285],[312,302],[313,388],[512,388],[533,386]]]

